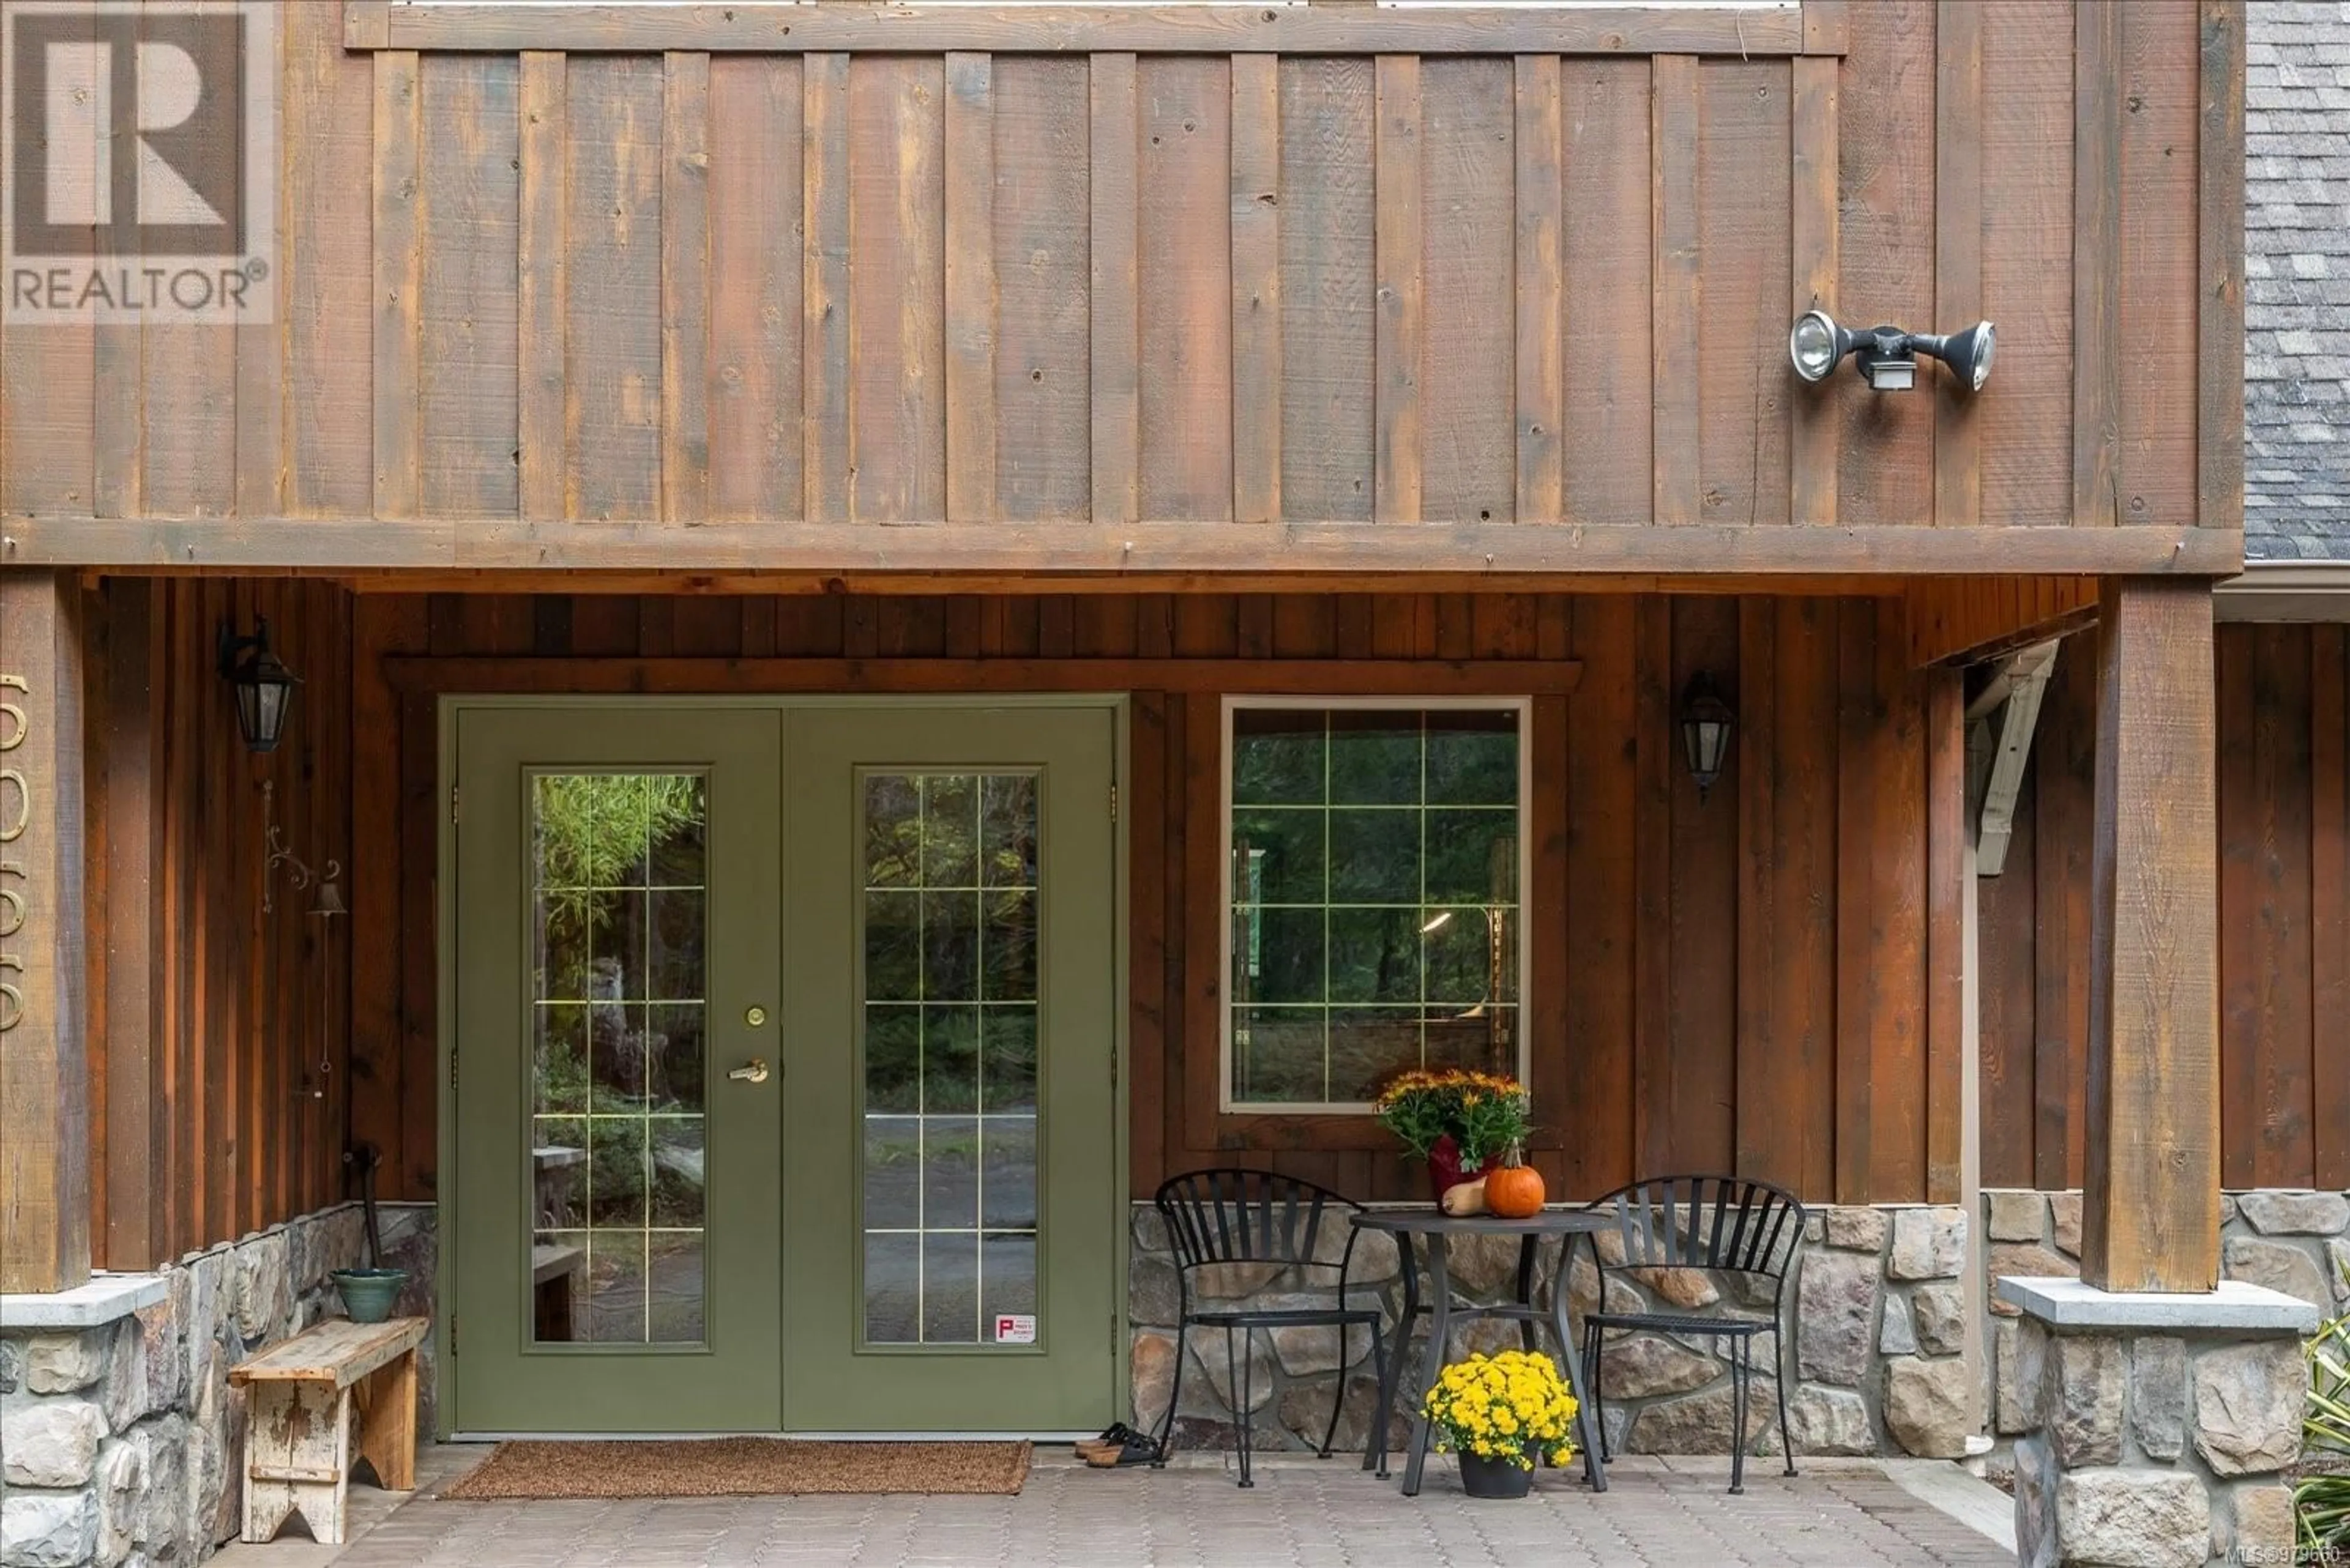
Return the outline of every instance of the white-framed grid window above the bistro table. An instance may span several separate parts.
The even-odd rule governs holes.
[[[1227,1105],[1523,1077],[1523,703],[1229,715]]]

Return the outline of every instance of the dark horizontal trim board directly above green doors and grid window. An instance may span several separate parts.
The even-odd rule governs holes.
[[[1572,658],[385,658],[395,691],[1250,691],[1565,696]]]

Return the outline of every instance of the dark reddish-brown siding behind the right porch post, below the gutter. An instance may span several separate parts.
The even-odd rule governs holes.
[[[2096,658],[2066,639],[2016,832],[1981,882],[1983,1182],[2077,1187]],[[2338,625],[2221,625],[2221,1180],[2350,1185],[2350,654]]]

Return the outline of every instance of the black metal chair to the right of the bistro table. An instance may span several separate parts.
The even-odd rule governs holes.
[[[1600,1298],[1584,1319],[1584,1387],[1598,1406],[1600,1462],[1607,1453],[1607,1389],[1603,1382],[1600,1342],[1610,1328],[1647,1328],[1654,1333],[1708,1335],[1730,1340],[1730,1490],[1746,1490],[1746,1401],[1753,1387],[1755,1335],[1772,1335],[1772,1366],[1779,1385],[1779,1448],[1786,1474],[1795,1474],[1795,1443],[1786,1427],[1786,1276],[1802,1251],[1805,1208],[1793,1192],[1770,1182],[1734,1175],[1652,1175],[1645,1182],[1617,1187],[1593,1199],[1591,1208],[1614,1211],[1624,1260],[1607,1262],[1600,1239],[1591,1237],[1591,1262],[1598,1267]],[[1770,1316],[1701,1316],[1694,1312],[1607,1312],[1607,1276],[1626,1269],[1690,1269],[1713,1274],[1751,1274],[1770,1281]]]

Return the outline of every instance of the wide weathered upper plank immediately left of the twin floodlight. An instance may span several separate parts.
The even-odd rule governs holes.
[[[1786,61],[1697,66],[1697,125],[1704,127],[1690,226],[1697,235],[1697,292],[1694,299],[1676,296],[1673,315],[1659,320],[1659,331],[1671,324],[1692,334],[1694,357],[1659,364],[1659,378],[1676,397],[1694,397],[1694,515],[1713,522],[1788,520],[1788,425],[1781,414],[1793,386],[1788,320],[1779,308],[1777,270],[1770,287],[1755,280],[1755,259],[1791,254],[1788,87]],[[1680,313],[1692,313],[1685,327]],[[1697,348],[1699,336],[1704,348]],[[1687,374],[1690,364],[1706,362],[1706,374]]]

